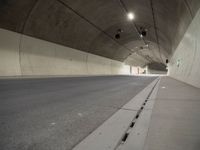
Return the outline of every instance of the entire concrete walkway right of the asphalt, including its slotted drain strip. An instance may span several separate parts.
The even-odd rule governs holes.
[[[156,79],[74,150],[199,150],[200,89]]]

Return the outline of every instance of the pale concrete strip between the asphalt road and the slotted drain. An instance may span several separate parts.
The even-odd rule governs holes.
[[[144,101],[152,92],[158,78],[125,104],[113,116],[76,145],[73,150],[114,150],[123,141],[124,134],[137,117]]]

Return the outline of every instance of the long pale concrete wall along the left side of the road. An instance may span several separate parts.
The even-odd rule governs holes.
[[[111,74],[130,74],[130,66],[0,29],[0,76]]]

